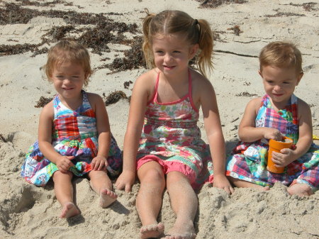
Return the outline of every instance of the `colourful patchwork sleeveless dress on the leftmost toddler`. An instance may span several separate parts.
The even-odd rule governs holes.
[[[56,95],[53,99],[54,120],[52,122],[52,146],[60,155],[74,156],[69,171],[83,176],[91,171],[91,160],[98,152],[96,118],[85,91],[83,103],[75,111],[68,109]],[[116,176],[121,171],[122,153],[116,140],[111,136],[111,147],[107,158],[108,174]],[[30,184],[45,186],[52,174],[59,170],[40,152],[38,141],[30,146],[22,165],[21,176]]]

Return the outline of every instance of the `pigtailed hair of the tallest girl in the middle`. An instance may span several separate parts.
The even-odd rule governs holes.
[[[191,45],[198,44],[196,55],[198,70],[206,76],[206,70],[213,70],[213,32],[209,23],[203,19],[194,19],[184,11],[162,11],[158,14],[149,13],[143,21],[144,42],[142,50],[147,67],[155,67],[152,52],[152,38],[155,35],[181,34]]]

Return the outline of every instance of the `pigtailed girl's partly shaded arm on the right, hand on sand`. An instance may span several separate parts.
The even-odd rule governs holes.
[[[208,138],[211,157],[213,159],[213,186],[233,193],[234,189],[228,181],[225,171],[225,140],[221,128],[216,94],[207,79],[201,80],[201,107],[203,110],[204,126]]]

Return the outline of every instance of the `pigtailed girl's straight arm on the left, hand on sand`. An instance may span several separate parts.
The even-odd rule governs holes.
[[[150,96],[150,72],[142,74],[133,87],[123,147],[123,172],[116,180],[117,189],[130,191],[135,181],[136,155],[144,122],[145,110]],[[151,78],[152,79],[152,78]]]

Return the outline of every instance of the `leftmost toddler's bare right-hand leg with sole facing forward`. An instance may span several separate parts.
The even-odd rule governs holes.
[[[89,172],[91,188],[100,196],[100,206],[106,208],[113,204],[117,195],[112,191],[112,182],[105,171],[92,170]]]

